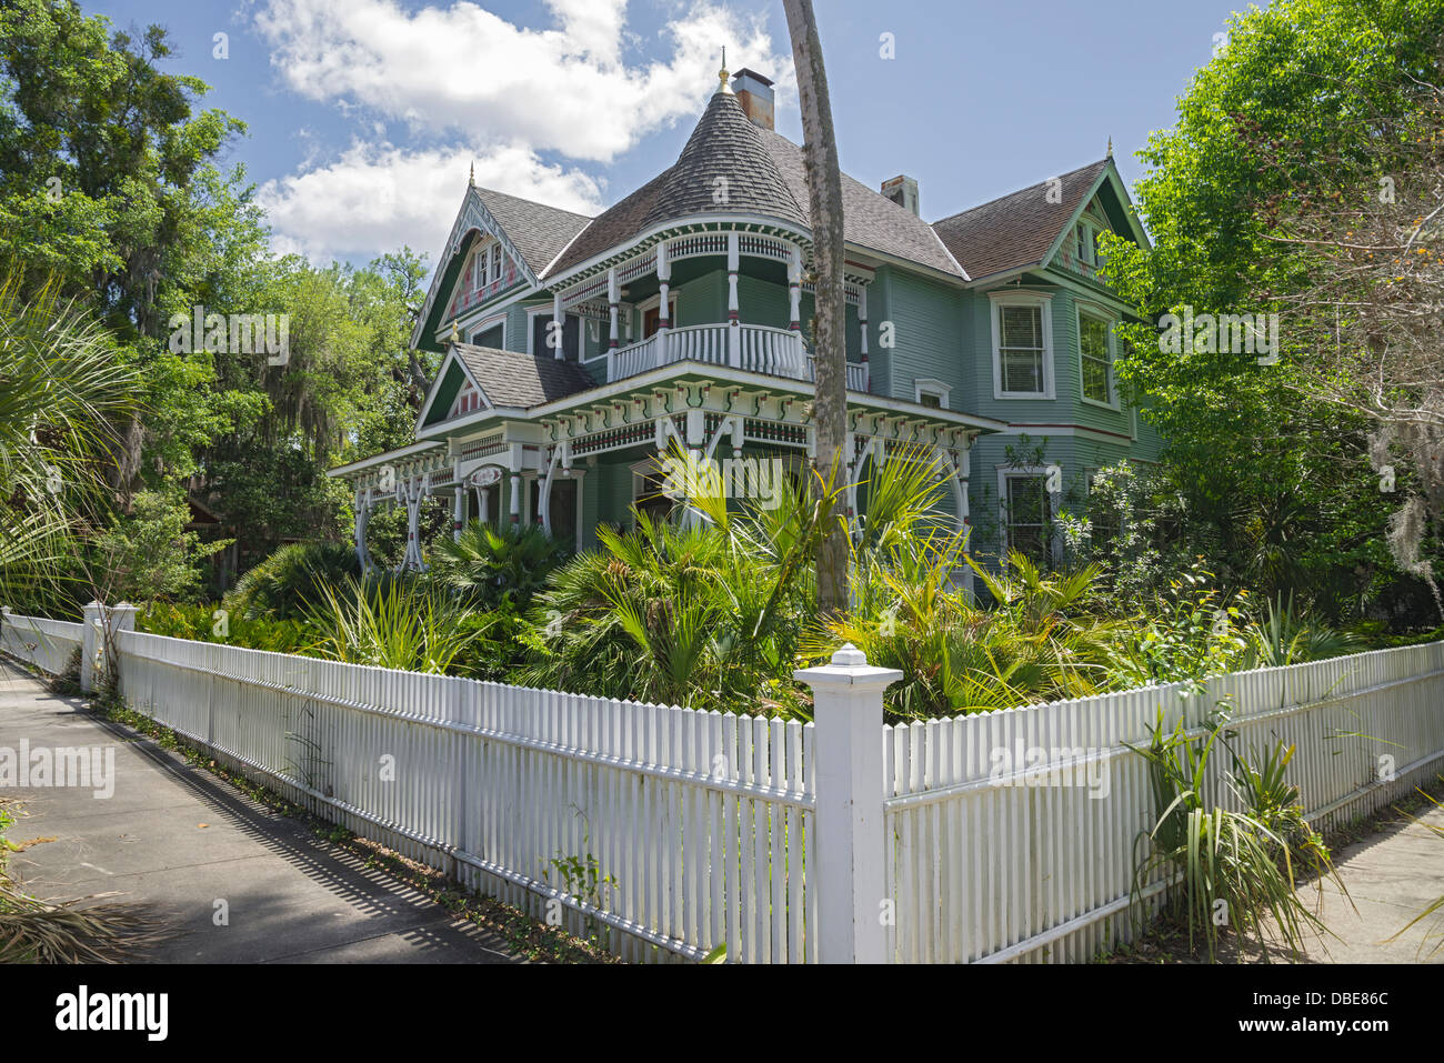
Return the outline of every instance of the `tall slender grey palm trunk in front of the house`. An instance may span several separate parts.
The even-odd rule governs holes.
[[[817,441],[814,468],[829,490],[840,487],[842,443],[848,433],[846,332],[842,287],[842,172],[832,131],[827,72],[817,40],[812,0],[783,0],[787,32],[793,39],[797,97],[803,113],[803,159],[807,165],[807,198],[813,234],[816,328],[813,331],[816,400],[813,425]],[[817,550],[817,611],[830,617],[848,602],[848,534],[829,520]]]

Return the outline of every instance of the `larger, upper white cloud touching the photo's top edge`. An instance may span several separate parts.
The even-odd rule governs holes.
[[[284,82],[312,100],[370,108],[419,131],[591,162],[696,116],[716,87],[723,45],[734,69],[793,79],[791,55],[774,51],[764,19],[709,0],[657,29],[664,61],[634,65],[624,59],[635,39],[627,0],[547,7],[554,27],[537,30],[475,3],[407,12],[394,0],[267,0],[256,26]]]

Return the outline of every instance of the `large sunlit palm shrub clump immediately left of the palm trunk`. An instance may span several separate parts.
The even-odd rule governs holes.
[[[775,504],[693,491],[634,513],[557,570],[521,682],[692,708],[804,713],[791,680],[814,614],[812,559],[840,491],[784,482]]]

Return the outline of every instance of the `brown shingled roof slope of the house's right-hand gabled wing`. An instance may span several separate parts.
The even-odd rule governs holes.
[[[973,280],[1038,266],[1108,166],[1103,159],[1057,178],[1058,202],[1050,202],[1053,182],[1041,181],[934,221],[933,231]]]

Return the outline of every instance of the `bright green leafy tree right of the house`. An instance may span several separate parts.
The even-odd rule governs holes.
[[[1141,153],[1149,172],[1135,199],[1152,248],[1103,241],[1108,279],[1145,322],[1119,328],[1129,354],[1118,373],[1148,396],[1142,416],[1167,441],[1190,540],[1217,543],[1197,552],[1229,586],[1294,594],[1333,622],[1383,615],[1391,588],[1415,585],[1385,543],[1395,507],[1365,456],[1372,423],[1307,386],[1298,367],[1310,351],[1287,312],[1275,365],[1164,351],[1152,322],[1184,306],[1287,309],[1298,259],[1256,207],[1307,186],[1326,160],[1333,179],[1378,189],[1389,170],[1375,131],[1418,82],[1438,81],[1441,39],[1441,0],[1279,0],[1235,14],[1227,48]],[[1291,166],[1275,166],[1285,150]],[[1414,602],[1408,620],[1432,612],[1427,596]]]

